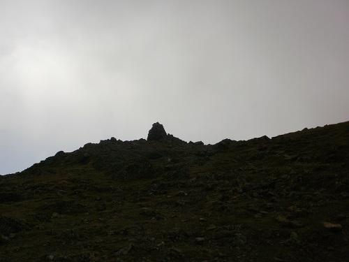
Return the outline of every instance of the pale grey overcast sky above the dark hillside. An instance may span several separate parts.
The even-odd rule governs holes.
[[[0,174],[154,122],[187,142],[349,120],[347,0],[0,0]]]

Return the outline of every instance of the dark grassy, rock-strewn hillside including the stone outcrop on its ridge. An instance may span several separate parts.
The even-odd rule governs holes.
[[[215,145],[155,123],[0,176],[0,261],[348,261],[349,122]]]

